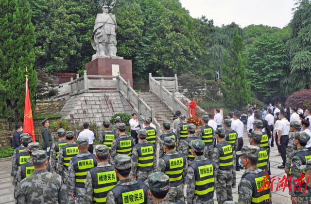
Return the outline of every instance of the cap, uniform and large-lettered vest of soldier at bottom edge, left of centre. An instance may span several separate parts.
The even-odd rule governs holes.
[[[114,158],[114,163],[116,169],[129,169],[131,168],[131,157],[128,155],[117,155]],[[129,185],[131,185],[130,188],[127,187]],[[122,204],[122,199],[128,199],[129,196],[132,196],[132,198],[137,198],[138,200],[136,201],[138,201],[137,203],[139,204],[147,204],[147,190],[148,187],[142,181],[135,181],[130,178],[120,180],[117,186],[108,192],[107,204]],[[135,191],[140,191],[139,197]]]

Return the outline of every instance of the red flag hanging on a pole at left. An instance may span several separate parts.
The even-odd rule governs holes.
[[[31,103],[29,97],[28,78],[26,77],[26,94],[25,94],[25,110],[24,110],[24,131],[33,137],[35,141],[35,127],[33,121],[33,112],[31,111]]]

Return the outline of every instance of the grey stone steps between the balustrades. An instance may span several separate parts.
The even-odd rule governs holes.
[[[141,98],[147,103],[150,108],[155,109],[155,119],[163,129],[163,122],[171,122],[171,129],[173,129],[173,112],[152,92],[140,93]]]

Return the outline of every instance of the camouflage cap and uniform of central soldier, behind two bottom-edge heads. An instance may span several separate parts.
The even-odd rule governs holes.
[[[156,172],[156,150],[155,150],[155,146],[151,143],[151,142],[148,142],[145,138],[147,137],[148,135],[148,132],[146,129],[140,129],[138,130],[138,137],[139,137],[139,140],[138,140],[138,144],[136,144],[134,147],[133,147],[133,151],[132,151],[132,170],[131,170],[131,173],[130,173],[130,177],[132,179],[134,179],[136,177],[135,180],[141,180],[141,181],[145,181],[147,178],[148,178],[148,175],[151,174],[151,173],[154,173]],[[143,157],[142,155],[139,155],[139,151],[138,151],[138,148],[140,148],[140,146],[143,145],[143,146],[152,146],[153,147],[153,151],[154,151],[154,154],[153,154],[153,170],[151,171],[141,171],[139,170],[139,160],[138,158],[139,157]],[[147,154],[148,155],[151,155],[151,154]],[[148,159],[150,160],[150,159]],[[144,161],[147,161],[147,160],[144,160]],[[143,167],[142,167],[143,168]],[[148,168],[150,169],[150,168]]]

